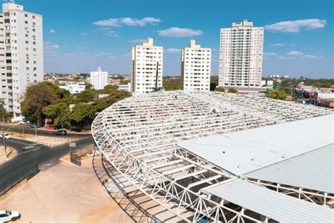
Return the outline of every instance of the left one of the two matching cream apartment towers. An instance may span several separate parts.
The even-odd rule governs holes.
[[[141,45],[131,47],[131,91],[133,94],[149,93],[156,87],[162,87],[163,47],[153,45],[153,39]]]

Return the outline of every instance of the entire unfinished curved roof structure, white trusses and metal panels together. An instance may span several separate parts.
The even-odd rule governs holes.
[[[94,119],[94,168],[135,222],[333,222],[333,122],[252,95],[135,95]]]

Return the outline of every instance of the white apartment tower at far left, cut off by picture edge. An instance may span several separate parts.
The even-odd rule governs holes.
[[[6,2],[0,13],[0,98],[18,121],[27,85],[43,81],[42,16]]]

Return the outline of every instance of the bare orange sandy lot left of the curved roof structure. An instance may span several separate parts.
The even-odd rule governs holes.
[[[101,188],[92,159],[40,172],[0,203],[4,209],[18,210],[17,222],[132,222]]]

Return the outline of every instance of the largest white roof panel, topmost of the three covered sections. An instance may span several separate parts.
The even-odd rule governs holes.
[[[321,116],[185,140],[178,145],[240,176],[334,143],[333,122],[334,115]]]

